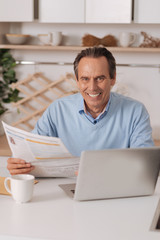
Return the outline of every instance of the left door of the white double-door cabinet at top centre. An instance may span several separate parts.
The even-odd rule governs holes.
[[[39,20],[84,23],[84,0],[39,0]]]

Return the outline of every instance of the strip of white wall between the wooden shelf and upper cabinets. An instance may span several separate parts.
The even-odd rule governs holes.
[[[121,31],[129,31],[137,34],[135,46],[143,40],[140,32],[145,31],[160,38],[160,24],[53,24],[53,23],[11,23],[11,33],[26,33],[32,35],[31,42],[38,43],[37,34],[51,31],[62,31],[64,45],[81,45],[81,38],[84,34],[93,34],[97,37],[104,37],[112,34],[117,39]]]

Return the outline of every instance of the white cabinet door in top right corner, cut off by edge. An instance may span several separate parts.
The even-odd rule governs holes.
[[[135,0],[135,23],[160,23],[160,0]]]

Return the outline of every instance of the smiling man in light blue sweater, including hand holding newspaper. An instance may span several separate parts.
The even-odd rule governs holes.
[[[33,133],[59,137],[70,153],[84,150],[153,146],[149,114],[144,105],[111,93],[116,62],[106,48],[83,50],[74,61],[80,93],[54,101],[37,122]],[[8,159],[11,174],[34,167],[21,159]]]

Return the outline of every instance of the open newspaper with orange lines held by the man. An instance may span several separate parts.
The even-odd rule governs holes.
[[[36,177],[73,177],[79,167],[79,157],[72,156],[60,138],[40,136],[3,123],[14,158],[35,166]]]

